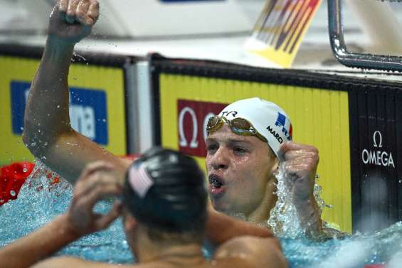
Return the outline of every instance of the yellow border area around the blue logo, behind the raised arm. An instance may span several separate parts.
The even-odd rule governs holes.
[[[12,129],[11,82],[30,83],[39,60],[0,56],[0,166],[11,161],[33,161],[23,145],[21,134]],[[122,68],[73,64],[68,79],[70,87],[88,92],[104,92],[107,109],[105,149],[117,155],[127,151],[125,129],[125,85]],[[40,104],[38,104],[40,105]]]

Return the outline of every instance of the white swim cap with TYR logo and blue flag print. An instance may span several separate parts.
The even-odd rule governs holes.
[[[292,124],[285,111],[277,104],[259,97],[233,102],[226,106],[219,116],[229,120],[246,119],[268,140],[268,145],[276,156],[280,144],[292,140]]]

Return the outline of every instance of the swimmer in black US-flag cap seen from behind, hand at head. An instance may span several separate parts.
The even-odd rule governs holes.
[[[120,215],[137,259],[137,264],[125,267],[287,267],[272,232],[207,209],[203,171],[189,156],[170,149],[150,149],[129,166],[124,186],[115,176],[115,167],[107,162],[85,167],[68,211],[1,248],[0,267],[122,267],[51,257],[70,242],[105,229]],[[93,212],[99,200],[113,196],[122,198],[109,213]],[[203,255],[203,240],[216,247],[211,259]]]

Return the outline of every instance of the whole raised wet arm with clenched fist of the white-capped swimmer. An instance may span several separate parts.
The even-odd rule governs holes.
[[[128,165],[70,125],[70,60],[75,43],[90,34],[98,17],[96,0],[59,0],[55,4],[49,18],[48,40],[26,104],[23,141],[36,158],[70,182],[93,161],[112,163],[120,179]]]

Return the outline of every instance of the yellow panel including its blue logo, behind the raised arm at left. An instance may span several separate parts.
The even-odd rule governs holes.
[[[21,134],[28,90],[38,65],[39,59],[0,55],[0,166],[34,159]],[[73,129],[116,155],[127,154],[124,78],[124,68],[95,63],[73,63],[68,75]]]

